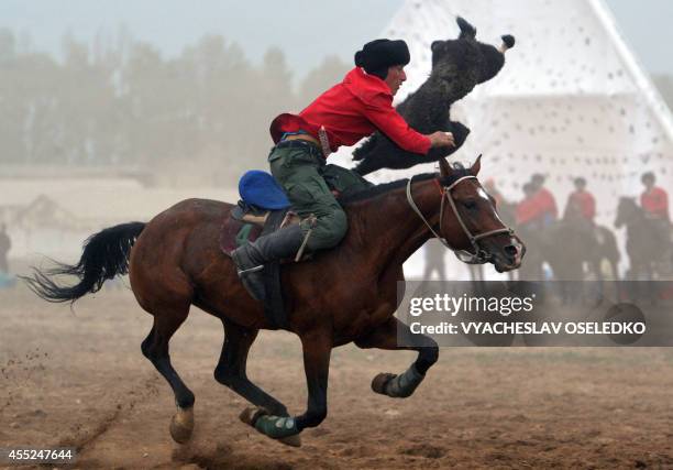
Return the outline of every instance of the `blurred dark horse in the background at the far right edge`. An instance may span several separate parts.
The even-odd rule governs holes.
[[[654,280],[671,267],[670,229],[661,221],[648,217],[631,197],[620,197],[615,227],[626,226],[626,250],[629,256],[627,278]]]

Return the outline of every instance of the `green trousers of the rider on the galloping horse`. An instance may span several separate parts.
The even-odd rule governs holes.
[[[318,149],[310,144],[274,147],[268,163],[299,217],[315,215],[318,219],[307,249],[316,251],[336,245],[345,236],[347,220],[322,177],[326,163]],[[302,222],[301,229],[306,234],[309,227]]]

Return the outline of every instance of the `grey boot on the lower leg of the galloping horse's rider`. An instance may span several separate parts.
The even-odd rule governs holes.
[[[294,256],[302,242],[301,228],[294,225],[260,237],[231,252],[239,277],[253,297],[260,300],[264,296],[264,280],[260,275],[264,264]]]

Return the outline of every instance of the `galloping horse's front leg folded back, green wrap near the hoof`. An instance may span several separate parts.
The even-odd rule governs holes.
[[[260,433],[282,439],[284,444],[297,446],[288,437],[297,436],[307,427],[316,427],[327,416],[327,386],[332,352],[331,330],[311,331],[301,336],[304,369],[308,385],[308,407],[300,416],[285,417],[272,415],[263,408],[249,409],[241,418]],[[298,437],[298,436],[297,436]]]

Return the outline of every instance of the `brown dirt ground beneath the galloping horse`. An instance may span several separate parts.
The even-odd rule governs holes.
[[[172,359],[196,394],[196,430],[175,444],[168,385],[141,354],[151,317],[130,291],[52,305],[0,291],[0,446],[75,446],[77,468],[673,468],[673,349],[442,349],[413,396],[369,390],[411,352],[333,352],[329,415],[302,447],[238,419],[217,383],[218,319],[194,308]],[[298,339],[263,332],[249,375],[304,411]]]

